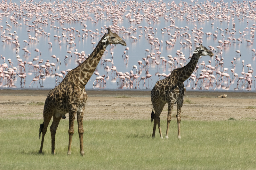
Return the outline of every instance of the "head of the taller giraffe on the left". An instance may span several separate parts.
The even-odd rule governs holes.
[[[123,46],[126,46],[125,41],[116,33],[112,33],[109,28],[108,33],[105,33],[105,35],[101,39],[101,42],[106,42],[107,44],[121,44]]]

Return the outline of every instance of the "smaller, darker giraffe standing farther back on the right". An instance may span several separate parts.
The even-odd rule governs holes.
[[[169,125],[171,122],[171,114],[173,105],[177,103],[177,123],[178,123],[178,138],[180,139],[180,121],[181,121],[181,107],[183,105],[183,97],[185,94],[185,87],[183,82],[189,78],[189,76],[195,70],[196,64],[201,55],[213,56],[213,53],[206,47],[200,44],[199,47],[193,52],[193,56],[189,63],[184,67],[177,68],[172,71],[171,75],[165,79],[156,82],[156,85],[151,91],[151,102],[153,105],[151,113],[151,122],[154,120],[153,134],[155,137],[156,124],[158,125],[160,137],[163,138],[161,127],[160,127],[160,114],[164,108],[164,105],[168,103],[168,113],[167,113],[167,129],[165,138],[168,138]],[[154,114],[155,110],[155,114]]]

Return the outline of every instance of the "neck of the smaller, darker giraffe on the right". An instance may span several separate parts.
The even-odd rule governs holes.
[[[191,60],[188,62],[188,64],[179,69],[178,76],[179,76],[180,82],[184,82],[185,80],[187,80],[189,78],[189,76],[191,76],[191,74],[193,73],[193,71],[196,68],[196,64],[199,60],[199,57],[200,57],[200,55],[198,55],[198,53],[193,54],[193,56],[192,56]]]

